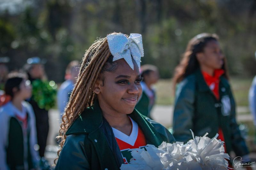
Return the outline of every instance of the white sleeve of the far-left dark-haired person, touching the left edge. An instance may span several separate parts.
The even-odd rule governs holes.
[[[8,170],[9,167],[7,166],[6,160],[6,147],[7,147],[7,136],[9,130],[9,116],[0,110],[0,169],[1,170]]]

